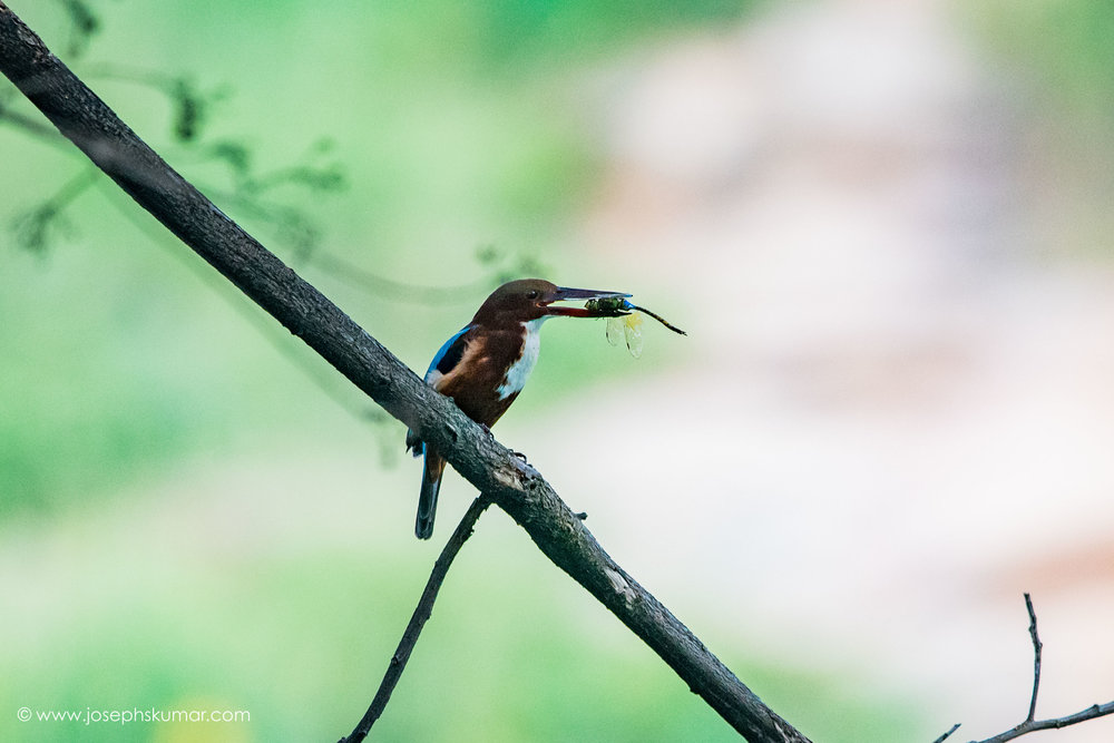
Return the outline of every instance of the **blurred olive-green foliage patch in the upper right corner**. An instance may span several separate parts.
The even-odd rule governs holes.
[[[1016,148],[1026,199],[1020,247],[1108,263],[1114,213],[1114,4],[1103,0],[958,3],[988,78],[1014,114],[995,133]],[[1000,100],[999,100],[1000,102]],[[1027,244],[1026,244],[1027,243]]]

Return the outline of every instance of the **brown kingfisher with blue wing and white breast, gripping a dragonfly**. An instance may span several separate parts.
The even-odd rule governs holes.
[[[557,286],[543,278],[506,283],[485,300],[470,323],[444,342],[426,371],[426,383],[490,429],[518,398],[534,371],[541,348],[541,324],[556,316],[599,316],[584,306],[555,302],[627,296],[622,292]],[[426,458],[414,534],[419,539],[429,539],[433,535],[444,458],[413,430],[407,431],[407,450]]]

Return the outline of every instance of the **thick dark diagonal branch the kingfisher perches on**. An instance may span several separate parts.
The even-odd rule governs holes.
[[[808,741],[612,560],[534,468],[426,385],[173,170],[2,2],[0,71],[140,206],[444,454],[736,731],[755,743]]]

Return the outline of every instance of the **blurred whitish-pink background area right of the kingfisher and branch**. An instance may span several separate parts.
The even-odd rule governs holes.
[[[1114,271],[1052,211],[1053,124],[957,16],[793,3],[602,76],[606,198],[574,239],[691,339],[651,322],[668,373],[504,436],[667,604],[966,741],[1024,718],[1024,592],[1038,715],[1114,698]],[[614,426],[593,467],[557,446]]]

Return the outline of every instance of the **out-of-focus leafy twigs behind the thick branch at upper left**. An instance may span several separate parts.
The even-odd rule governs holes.
[[[55,0],[69,39],[66,52],[70,65],[81,67],[87,78],[108,79],[158,91],[166,99],[168,144],[175,146],[176,159],[192,168],[224,166],[224,183],[205,183],[204,190],[225,209],[257,221],[272,231],[273,237],[292,253],[296,265],[312,265],[321,273],[342,281],[373,296],[411,304],[453,304],[473,302],[499,284],[525,275],[545,275],[546,266],[528,255],[512,255],[492,246],[476,251],[483,274],[475,282],[458,286],[417,286],[379,275],[321,250],[324,227],[303,204],[306,193],[320,195],[343,190],[348,177],[342,159],[334,157],[335,144],[322,137],[295,162],[270,169],[256,165],[255,153],[245,139],[212,138],[207,125],[218,105],[232,97],[228,86],[203,89],[188,75],[168,74],[119,65],[85,65],[84,59],[105,27],[94,3],[87,0]],[[74,151],[65,137],[41,119],[18,110],[14,87],[0,85],[0,124],[45,139],[66,151]],[[32,253],[46,253],[77,234],[77,221],[68,217],[70,207],[97,185],[99,172],[82,166],[76,176],[32,207],[16,214],[12,226],[16,244]],[[283,198],[281,193],[289,197]],[[312,201],[312,199],[310,199]]]

